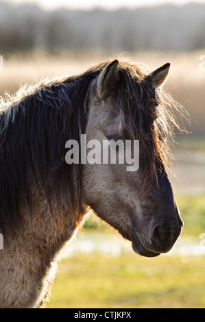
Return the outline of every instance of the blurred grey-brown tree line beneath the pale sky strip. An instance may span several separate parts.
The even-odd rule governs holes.
[[[0,53],[45,49],[165,49],[205,47],[205,5],[137,10],[56,10],[0,2]]]

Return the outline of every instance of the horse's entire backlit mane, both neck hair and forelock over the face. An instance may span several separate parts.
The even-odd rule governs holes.
[[[108,62],[81,75],[46,80],[21,88],[0,102],[0,229],[21,219],[19,202],[32,212],[27,177],[39,179],[47,200],[56,209],[67,206],[70,195],[76,220],[82,212],[80,165],[65,162],[65,143],[80,141],[86,123],[88,92]],[[113,102],[123,115],[125,134],[138,138],[145,153],[145,187],[156,174],[156,160],[167,164],[173,128],[181,129],[175,112],[180,106],[164,90],[156,92],[144,66],[120,62],[121,80]],[[141,102],[143,101],[143,107]],[[75,170],[75,171],[73,171]],[[155,174],[154,174],[155,173]],[[77,191],[73,189],[73,180]],[[68,206],[67,206],[68,207]]]

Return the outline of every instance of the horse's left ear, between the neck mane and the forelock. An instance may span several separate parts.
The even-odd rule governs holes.
[[[114,88],[119,78],[119,61],[114,60],[99,74],[97,92],[100,99],[109,95],[110,88]]]

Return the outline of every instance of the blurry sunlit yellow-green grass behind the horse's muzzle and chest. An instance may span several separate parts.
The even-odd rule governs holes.
[[[204,196],[177,200],[184,220],[182,235],[199,238],[205,232]],[[86,229],[95,225],[92,218]],[[205,256],[73,256],[62,260],[47,307],[205,308],[204,269]]]

